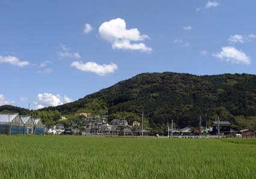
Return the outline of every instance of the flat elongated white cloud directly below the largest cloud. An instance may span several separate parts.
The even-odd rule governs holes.
[[[117,65],[114,63],[99,65],[96,62],[87,62],[84,64],[82,61],[74,61],[71,66],[81,71],[90,71],[99,74],[100,76],[114,73],[114,71],[117,70]]]

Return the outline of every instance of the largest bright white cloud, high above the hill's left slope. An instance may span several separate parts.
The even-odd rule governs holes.
[[[124,19],[117,18],[102,23],[99,34],[100,37],[112,43],[113,49],[152,51],[144,43],[131,43],[131,41],[143,41],[148,38],[148,35],[141,34],[136,28],[126,29]]]

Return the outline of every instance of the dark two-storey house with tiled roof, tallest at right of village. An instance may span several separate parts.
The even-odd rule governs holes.
[[[213,121],[212,123],[212,135],[229,135],[230,134],[230,122],[228,121]],[[219,130],[218,130],[219,129]]]

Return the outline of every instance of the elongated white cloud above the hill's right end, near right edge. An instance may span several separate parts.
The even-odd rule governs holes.
[[[243,63],[249,65],[251,63],[249,56],[242,52],[242,50],[237,50],[232,46],[222,47],[221,52],[213,53],[213,56],[236,64]]]

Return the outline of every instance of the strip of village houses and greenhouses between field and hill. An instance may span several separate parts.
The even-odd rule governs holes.
[[[64,118],[65,119],[65,118]],[[62,118],[63,120],[63,118]],[[162,135],[145,130],[142,123],[113,119],[108,115],[91,117],[84,115],[81,120],[72,121],[70,126],[56,124],[45,126],[40,118],[23,117],[19,114],[0,114],[0,134],[5,135],[82,135],[82,136],[157,136],[171,138],[255,138],[253,129],[236,131],[229,121],[213,121],[212,127],[167,127]],[[200,137],[199,137],[200,136]]]

